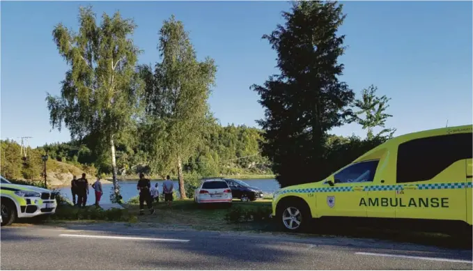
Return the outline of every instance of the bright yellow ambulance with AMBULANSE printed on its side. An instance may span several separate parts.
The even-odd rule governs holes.
[[[456,222],[471,231],[472,128],[389,139],[324,180],[280,189],[272,217],[286,231],[334,217]]]

